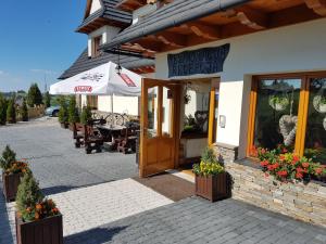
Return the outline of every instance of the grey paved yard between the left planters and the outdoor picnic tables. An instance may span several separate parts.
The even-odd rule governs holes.
[[[75,149],[72,131],[55,118],[0,127],[0,151],[10,144],[18,158],[27,158],[46,194],[131,178],[138,175],[135,154],[95,153]]]

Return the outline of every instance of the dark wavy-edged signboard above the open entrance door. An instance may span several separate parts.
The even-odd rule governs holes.
[[[168,77],[223,72],[229,43],[167,55]]]

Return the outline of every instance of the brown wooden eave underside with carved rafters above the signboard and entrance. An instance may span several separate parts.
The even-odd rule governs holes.
[[[326,16],[326,0],[253,0],[122,46],[145,56]],[[321,30],[325,31],[325,30]]]

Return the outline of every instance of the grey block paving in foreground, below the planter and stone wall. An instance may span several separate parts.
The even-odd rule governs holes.
[[[322,244],[326,230],[235,200],[189,197],[65,239],[75,243]]]

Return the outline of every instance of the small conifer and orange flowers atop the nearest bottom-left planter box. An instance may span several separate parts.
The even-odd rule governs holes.
[[[37,221],[60,214],[53,201],[45,198],[30,171],[24,175],[18,187],[16,209],[23,221]]]

